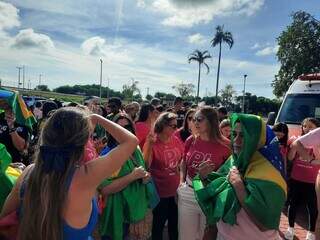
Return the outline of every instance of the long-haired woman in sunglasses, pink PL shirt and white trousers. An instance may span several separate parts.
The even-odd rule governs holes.
[[[194,196],[192,179],[199,174],[205,179],[230,156],[230,142],[221,135],[218,113],[212,107],[202,107],[194,115],[198,136],[185,142],[185,155],[181,164],[184,183],[178,189],[179,239],[203,238],[206,218]]]

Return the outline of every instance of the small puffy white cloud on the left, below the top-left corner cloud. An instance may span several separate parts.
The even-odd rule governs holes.
[[[20,30],[17,36],[14,37],[11,46],[17,49],[34,48],[49,50],[54,48],[53,41],[49,36],[36,33],[32,28]]]

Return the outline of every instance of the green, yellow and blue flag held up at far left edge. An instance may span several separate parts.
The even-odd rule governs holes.
[[[18,92],[0,88],[0,99],[5,99],[9,103],[18,124],[32,130],[32,125],[36,123],[36,119]]]

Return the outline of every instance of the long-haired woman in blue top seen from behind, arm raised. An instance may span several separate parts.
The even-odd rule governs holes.
[[[96,124],[109,131],[119,145],[108,156],[84,164],[85,145]],[[63,108],[48,119],[40,140],[35,164],[18,179],[0,218],[20,208],[21,240],[89,239],[98,215],[96,188],[121,167],[136,148],[137,139],[99,115]]]

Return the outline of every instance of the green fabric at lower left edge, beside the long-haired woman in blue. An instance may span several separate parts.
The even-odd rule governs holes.
[[[6,174],[6,170],[12,159],[6,147],[0,143],[0,211],[3,204],[15,184],[15,178]]]

